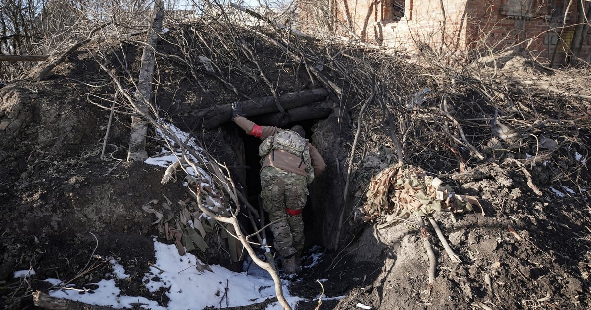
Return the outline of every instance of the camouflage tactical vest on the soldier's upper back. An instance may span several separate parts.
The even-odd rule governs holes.
[[[300,165],[306,165],[308,184],[314,180],[314,168],[312,167],[310,149],[308,148],[308,141],[306,139],[296,132],[281,129],[274,136],[269,136],[261,143],[259,146],[259,156],[264,160],[274,149],[281,149],[301,158]]]

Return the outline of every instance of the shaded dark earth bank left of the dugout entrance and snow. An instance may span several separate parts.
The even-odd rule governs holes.
[[[30,86],[0,90],[0,308],[8,309],[31,307],[30,293],[46,290],[46,278],[102,277],[108,256],[138,260],[142,275],[154,250],[139,239],[155,233],[141,205],[164,193],[161,169],[123,163],[128,129],[121,119],[113,119],[101,160],[108,113],[60,80]],[[165,194],[186,195],[179,187]],[[26,283],[12,278],[30,266],[37,274]]]

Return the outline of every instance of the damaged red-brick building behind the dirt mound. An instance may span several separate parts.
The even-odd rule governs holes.
[[[589,0],[573,0],[566,19],[569,0],[300,0],[299,17],[309,30],[348,31],[389,47],[454,53],[513,47],[557,64],[570,53],[577,2],[591,18]],[[583,30],[579,57],[589,62],[591,31]]]

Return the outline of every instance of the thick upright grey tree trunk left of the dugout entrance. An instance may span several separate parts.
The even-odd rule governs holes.
[[[162,29],[163,7],[164,1],[157,0],[154,2],[154,23],[146,37],[137,92],[135,93],[134,107],[137,114],[131,119],[131,135],[129,136],[129,149],[127,152],[128,161],[144,161],[148,158],[148,152],[145,150],[148,122],[144,119],[144,116],[150,113],[151,83],[155,63],[154,50],[158,41],[158,34]]]

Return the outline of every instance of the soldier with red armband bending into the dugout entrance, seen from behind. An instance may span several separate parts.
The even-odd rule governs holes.
[[[320,153],[306,139],[301,126],[290,130],[258,126],[245,118],[242,103],[232,105],[232,120],[249,135],[261,138],[261,198],[267,211],[273,245],[285,273],[301,271],[304,250],[302,210],[309,195],[308,185],[326,165]]]

